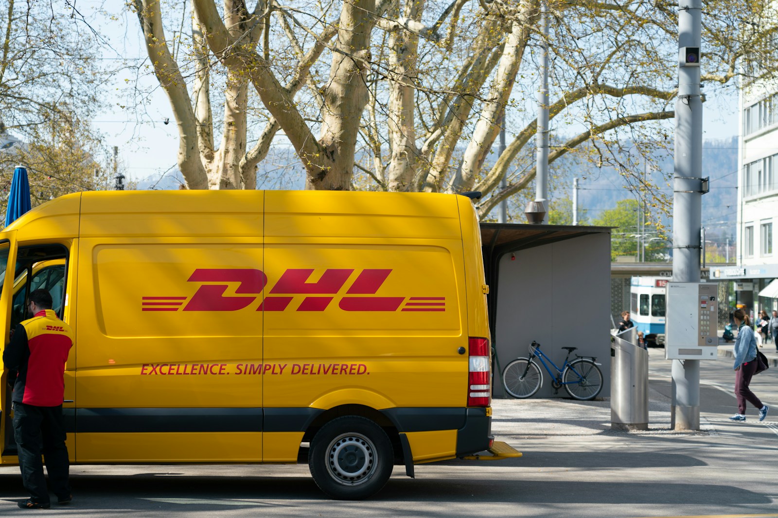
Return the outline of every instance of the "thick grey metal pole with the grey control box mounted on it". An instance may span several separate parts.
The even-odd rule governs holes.
[[[678,49],[698,47],[702,0],[678,0]],[[699,56],[698,56],[699,57]],[[675,101],[675,176],[673,179],[673,280],[699,282],[699,231],[702,227],[703,103],[699,66],[678,66]],[[699,360],[672,360],[671,424],[699,429]]]

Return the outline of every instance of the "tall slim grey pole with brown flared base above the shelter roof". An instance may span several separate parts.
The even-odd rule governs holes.
[[[535,145],[538,148],[535,169],[535,201],[540,201],[545,207],[543,223],[548,223],[548,15],[545,3],[540,7],[540,69],[541,87],[538,90],[538,130],[535,134]]]

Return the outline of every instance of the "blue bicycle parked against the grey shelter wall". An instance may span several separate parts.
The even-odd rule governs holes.
[[[564,387],[571,398],[582,401],[596,398],[602,390],[603,379],[602,371],[596,363],[597,358],[576,354],[576,359],[568,363],[570,354],[577,347],[562,347],[562,349],[567,350],[567,356],[562,368],[559,368],[556,367],[551,358],[540,350],[540,344],[533,341],[530,346],[529,358],[517,358],[508,363],[503,370],[505,391],[514,398],[524,399],[533,396],[543,384],[543,373],[538,367],[538,363],[534,361],[535,358],[538,358],[545,370],[548,371],[548,375],[551,376],[553,380],[551,384],[555,390]],[[551,363],[556,374],[552,374],[545,360]]]

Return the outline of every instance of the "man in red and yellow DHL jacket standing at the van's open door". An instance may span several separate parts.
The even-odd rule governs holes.
[[[13,430],[22,482],[31,495],[19,502],[19,507],[48,509],[51,505],[41,454],[57,502],[66,504],[72,499],[62,399],[73,330],[51,310],[47,290],[34,290],[28,304],[33,318],[13,330],[2,360],[5,368],[19,372],[13,386]]]

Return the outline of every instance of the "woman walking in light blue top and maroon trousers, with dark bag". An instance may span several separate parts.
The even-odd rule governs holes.
[[[734,392],[738,396],[738,413],[730,419],[745,421],[745,402],[759,408],[759,421],[767,416],[769,408],[748,388],[756,371],[756,336],[751,329],[748,315],[742,309],[735,310],[734,324],[738,326],[738,339],[734,341]]]

